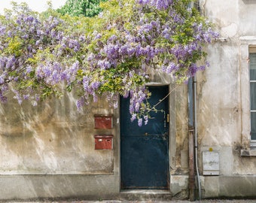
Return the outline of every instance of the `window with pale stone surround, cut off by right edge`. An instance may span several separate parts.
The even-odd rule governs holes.
[[[239,39],[241,156],[256,156],[256,36],[242,36]]]

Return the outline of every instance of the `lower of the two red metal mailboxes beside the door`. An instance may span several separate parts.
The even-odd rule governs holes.
[[[95,150],[112,150],[113,135],[94,135]]]

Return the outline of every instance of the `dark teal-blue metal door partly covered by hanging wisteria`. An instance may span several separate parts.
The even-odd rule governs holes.
[[[168,86],[149,86],[151,106],[169,92]],[[122,189],[169,188],[169,102],[151,112],[148,125],[130,121],[129,98],[120,98],[120,165]]]

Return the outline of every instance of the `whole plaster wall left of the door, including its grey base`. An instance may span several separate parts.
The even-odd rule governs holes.
[[[82,111],[72,94],[36,107],[14,99],[1,105],[0,199],[118,194],[119,112],[104,101]],[[113,128],[94,129],[95,114],[111,114]],[[95,150],[93,135],[114,135],[113,150]]]

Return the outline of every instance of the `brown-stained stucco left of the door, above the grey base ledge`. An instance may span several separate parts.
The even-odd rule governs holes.
[[[113,150],[94,150],[94,114],[113,114],[106,102],[78,112],[72,96],[37,107],[10,100],[0,107],[0,174],[110,174]],[[115,147],[115,146],[114,146]]]

